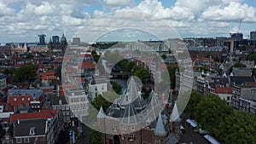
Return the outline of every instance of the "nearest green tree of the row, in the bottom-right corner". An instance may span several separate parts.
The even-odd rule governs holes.
[[[256,143],[256,117],[251,112],[233,112],[218,125],[215,135],[221,143]]]

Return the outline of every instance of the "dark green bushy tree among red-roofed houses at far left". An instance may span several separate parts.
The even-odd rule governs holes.
[[[29,82],[32,83],[35,80],[35,74],[38,70],[38,66],[34,64],[25,64],[20,66],[14,73],[15,82]]]

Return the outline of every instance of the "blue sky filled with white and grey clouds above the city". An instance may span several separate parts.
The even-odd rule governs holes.
[[[83,41],[106,39],[106,33],[147,39],[140,32],[152,29],[167,38],[170,27],[181,37],[229,37],[240,21],[244,37],[256,30],[255,0],[0,0],[0,9],[0,43],[36,42],[42,33],[49,41],[62,32],[68,40],[83,34]],[[113,32],[122,27],[125,34]],[[127,27],[137,30],[129,33]]]

